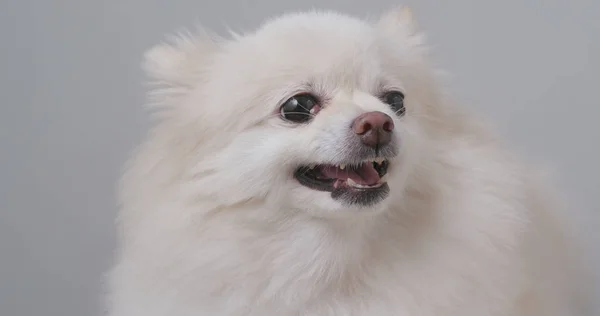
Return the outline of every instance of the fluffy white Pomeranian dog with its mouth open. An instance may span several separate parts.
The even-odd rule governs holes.
[[[112,316],[573,316],[554,194],[454,107],[410,12],[149,50]]]

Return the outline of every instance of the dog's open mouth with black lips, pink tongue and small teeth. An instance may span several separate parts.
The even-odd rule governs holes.
[[[331,192],[334,199],[349,204],[372,205],[387,197],[389,161],[374,158],[360,164],[303,166],[294,173],[300,184]]]

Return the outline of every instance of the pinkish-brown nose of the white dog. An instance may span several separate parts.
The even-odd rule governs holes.
[[[392,139],[394,121],[383,112],[367,112],[354,119],[352,130],[360,137],[363,144],[378,148],[387,145]]]

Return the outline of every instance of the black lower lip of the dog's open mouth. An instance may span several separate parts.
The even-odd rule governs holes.
[[[389,162],[386,161],[383,168],[376,168],[381,176],[387,173]],[[306,166],[296,169],[294,178],[303,186],[316,190],[331,192],[331,198],[341,201],[343,204],[352,206],[372,206],[383,201],[389,195],[389,186],[383,183],[373,188],[354,188],[347,185],[334,187],[336,179],[320,179],[315,169]]]

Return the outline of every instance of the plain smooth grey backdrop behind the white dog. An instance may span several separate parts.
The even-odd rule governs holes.
[[[524,157],[557,168],[597,260],[600,1],[405,3],[465,106],[492,119]],[[240,30],[295,9],[374,16],[393,4],[2,0],[0,315],[100,314],[114,183],[148,124],[146,48],[198,21]]]

